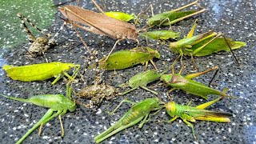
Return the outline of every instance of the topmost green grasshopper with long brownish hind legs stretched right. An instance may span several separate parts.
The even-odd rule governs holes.
[[[185,9],[186,7],[189,6],[194,6],[198,5],[198,1],[192,2],[186,6],[182,6],[178,9],[175,10],[170,10],[165,13],[161,14],[156,14],[152,18],[148,19],[148,26],[153,27],[153,26],[170,26],[176,22],[182,21],[185,18],[190,18],[191,16],[194,16],[196,14],[200,14],[206,9],[202,8],[202,10],[196,11],[196,10],[187,10],[187,11],[180,11]],[[199,6],[202,7],[202,6]]]

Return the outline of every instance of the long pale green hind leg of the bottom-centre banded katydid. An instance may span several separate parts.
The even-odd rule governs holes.
[[[98,138],[98,139],[94,139],[96,140],[96,143],[102,142],[104,141],[106,138],[109,138],[110,136],[117,134],[119,131],[125,130],[126,128],[130,127],[130,126],[134,126],[135,124],[137,124],[138,122],[140,122],[142,120],[143,117],[137,118],[136,120],[134,120],[134,122],[130,122],[128,125],[126,126],[120,126],[118,129],[112,131],[110,134],[107,134],[106,136],[104,136],[103,138]]]

